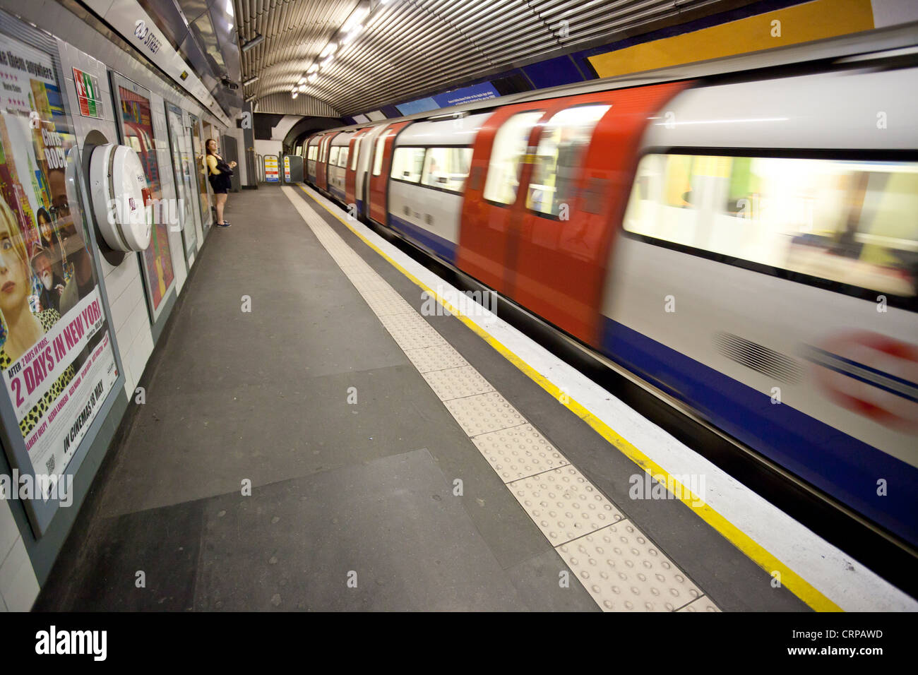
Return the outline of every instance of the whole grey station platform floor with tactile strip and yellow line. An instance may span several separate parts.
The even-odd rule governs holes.
[[[912,608],[818,538],[789,548],[822,578],[795,577],[752,524],[634,499],[657,465],[626,445],[653,448],[554,395],[563,365],[532,366],[499,317],[431,313],[413,261],[311,189],[231,195],[227,218],[36,610]],[[739,494],[703,472],[705,508]],[[743,499],[746,523],[799,532]]]

